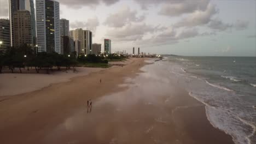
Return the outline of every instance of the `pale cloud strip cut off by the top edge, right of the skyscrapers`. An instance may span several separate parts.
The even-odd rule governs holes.
[[[69,8],[82,8],[85,6],[95,7],[100,3],[111,5],[117,3],[119,0],[61,0],[61,4],[67,5]]]

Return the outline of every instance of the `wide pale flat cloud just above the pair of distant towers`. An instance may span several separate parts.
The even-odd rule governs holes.
[[[108,30],[107,36],[116,41],[135,41],[142,39],[147,33],[154,33],[156,31],[161,31],[161,28],[146,25],[145,23],[129,23],[124,27]]]

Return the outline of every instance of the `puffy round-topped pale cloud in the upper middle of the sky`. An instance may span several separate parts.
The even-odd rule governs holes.
[[[109,27],[123,27],[126,23],[141,22],[145,19],[144,16],[138,17],[136,15],[137,11],[131,11],[129,7],[124,7],[117,11],[117,13],[110,14],[104,24]]]

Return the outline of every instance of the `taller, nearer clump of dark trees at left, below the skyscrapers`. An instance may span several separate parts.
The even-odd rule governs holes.
[[[37,73],[41,69],[46,69],[49,73],[49,70],[53,70],[54,67],[57,67],[58,70],[61,67],[66,67],[66,69],[73,67],[75,70],[77,64],[75,57],[59,55],[56,52],[36,53],[32,47],[27,45],[18,48],[10,47],[7,51],[0,52],[0,73],[4,67],[7,67],[11,73],[14,72],[15,68],[18,68],[22,73],[22,68],[30,70],[32,67],[36,69]]]

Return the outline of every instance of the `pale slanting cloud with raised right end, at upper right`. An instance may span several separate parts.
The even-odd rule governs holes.
[[[211,21],[211,17],[218,13],[216,6],[209,3],[205,11],[196,10],[194,13],[189,14],[184,19],[174,23],[174,27],[194,27],[206,25]]]

